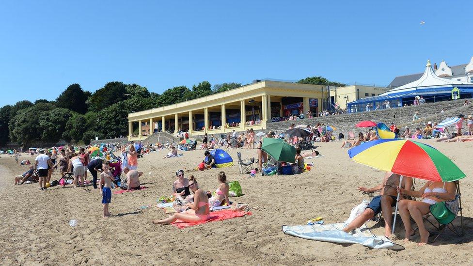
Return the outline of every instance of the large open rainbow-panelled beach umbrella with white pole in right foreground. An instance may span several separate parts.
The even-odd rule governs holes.
[[[457,181],[466,176],[452,160],[439,150],[417,141],[400,139],[369,141],[349,149],[348,155],[355,162],[378,170],[400,174],[399,184],[401,184],[403,176],[443,182]],[[393,234],[399,196],[398,192]]]

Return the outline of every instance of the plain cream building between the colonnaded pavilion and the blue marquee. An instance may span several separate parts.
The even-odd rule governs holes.
[[[338,103],[342,110],[347,109],[347,103],[366,97],[378,96],[389,91],[389,88],[352,85],[346,87],[330,86],[330,101]]]

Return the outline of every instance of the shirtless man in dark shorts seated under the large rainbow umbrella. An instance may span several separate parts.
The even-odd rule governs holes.
[[[363,213],[351,221],[343,231],[349,233],[355,228],[359,228],[367,220],[373,219],[378,213],[383,215],[385,227],[384,236],[391,237],[392,227],[391,220],[393,218],[393,206],[396,205],[397,200],[397,187],[399,186],[400,175],[393,172],[386,172],[384,175],[383,183],[374,188],[363,188],[360,187],[358,190],[372,193],[377,190],[381,190],[379,195],[371,199],[371,202],[363,211]],[[412,177],[406,177],[402,179],[401,188],[412,188]],[[401,198],[403,199],[403,198]]]

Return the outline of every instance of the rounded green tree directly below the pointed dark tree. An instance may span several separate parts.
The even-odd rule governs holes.
[[[71,117],[71,111],[65,108],[56,108],[49,112],[45,111],[39,118],[41,140],[56,142],[63,137],[66,123]]]

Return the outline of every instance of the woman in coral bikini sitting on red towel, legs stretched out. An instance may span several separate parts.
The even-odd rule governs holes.
[[[195,180],[193,177],[189,180],[189,188],[192,190],[192,192],[194,192],[194,202],[186,204],[186,206],[190,208],[189,210],[181,213],[175,213],[166,219],[154,220],[153,223],[171,224],[177,219],[185,222],[199,222],[210,219],[207,193],[197,186],[197,180]]]

